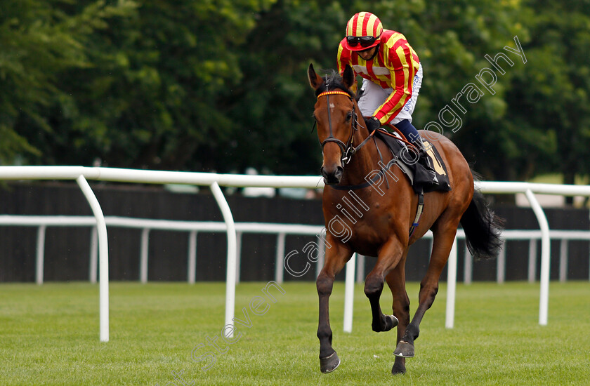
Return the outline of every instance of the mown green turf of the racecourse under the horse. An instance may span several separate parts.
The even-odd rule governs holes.
[[[237,286],[236,316],[265,283]],[[317,359],[317,295],[311,283],[284,284],[266,314],[202,371],[190,359],[221,336],[225,284],[110,284],[110,342],[99,342],[98,286],[0,285],[0,385],[166,385],[172,372],[195,385],[587,385],[590,283],[551,283],[549,325],[539,326],[538,284],[457,286],[455,328],[445,328],[445,286],[426,313],[416,357],[391,375],[395,332],[373,333],[369,302],[355,288],[353,333],[343,333],[343,284],[331,298],[330,374]],[[407,286],[412,312],[419,284]],[[391,293],[382,306],[391,310]],[[237,334],[237,333],[236,333]],[[236,335],[237,336],[237,335]],[[218,338],[218,342],[221,338]],[[211,349],[211,347],[209,347]],[[199,349],[199,354],[206,352]],[[212,350],[212,349],[211,349]],[[176,385],[182,383],[176,381]]]

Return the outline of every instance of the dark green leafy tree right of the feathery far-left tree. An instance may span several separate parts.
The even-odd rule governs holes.
[[[39,149],[26,162],[216,168],[208,156],[233,130],[218,100],[240,84],[236,48],[269,2],[113,3],[58,4],[72,13],[85,61],[50,72],[59,85],[44,108],[51,133],[15,125]]]

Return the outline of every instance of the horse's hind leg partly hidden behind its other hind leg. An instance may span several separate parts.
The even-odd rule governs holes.
[[[405,288],[405,257],[404,255],[398,265],[385,277],[391,289],[391,295],[393,295],[393,314],[399,321],[398,338],[395,340],[396,345],[402,339],[409,324],[409,298]],[[394,375],[405,373],[404,357],[395,357],[391,373]]]

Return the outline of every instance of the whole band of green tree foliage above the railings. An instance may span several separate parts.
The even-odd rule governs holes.
[[[487,179],[590,174],[587,1],[7,0],[0,15],[0,161],[317,174],[306,68],[336,67],[348,18],[405,34],[424,67],[414,124]],[[526,55],[466,112],[485,55]]]

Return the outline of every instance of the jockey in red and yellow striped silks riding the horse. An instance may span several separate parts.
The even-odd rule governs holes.
[[[350,65],[355,75],[363,78],[358,107],[367,117],[369,133],[381,125],[392,124],[417,146],[421,156],[426,156],[422,139],[412,125],[412,112],[422,84],[422,67],[405,36],[383,29],[379,18],[372,13],[357,13],[348,20],[337,61],[339,74]],[[431,174],[435,173],[428,157],[419,157],[419,163]]]

